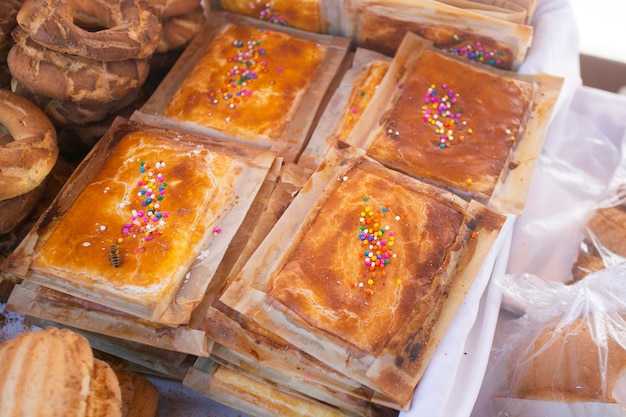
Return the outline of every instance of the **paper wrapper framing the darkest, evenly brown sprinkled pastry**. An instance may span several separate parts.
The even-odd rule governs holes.
[[[385,78],[379,86],[374,100],[369,104],[367,109],[365,109],[365,112],[360,119],[360,123],[354,127],[351,135],[348,137],[347,142],[349,144],[363,148],[368,151],[368,154],[371,154],[371,149],[375,149],[373,148],[373,145],[377,143],[379,137],[383,137],[384,135],[390,136],[387,132],[388,129],[393,132],[393,129],[390,127],[391,125],[403,123],[403,121],[388,119],[390,117],[388,114],[394,109],[398,100],[403,98],[411,100],[412,97],[410,95],[411,93],[403,95],[404,87],[399,88],[398,86],[403,86],[404,83],[407,83],[411,74],[415,74],[415,77],[419,77],[420,73],[417,72],[415,68],[419,65],[420,57],[427,52],[432,53],[433,51],[436,53],[436,50],[432,48],[430,42],[424,41],[422,38],[411,33],[406,35],[398,54],[394,57],[390,69],[387,71]],[[453,57],[444,58],[444,55],[441,55],[441,57],[442,59],[454,60]],[[408,157],[406,155],[403,155],[402,157],[377,155],[376,157],[379,159],[386,158],[381,160],[381,162],[388,166],[408,172],[410,175],[417,176],[425,181],[437,184],[442,188],[452,190],[465,198],[476,199],[496,211],[507,214],[521,214],[525,206],[532,174],[535,169],[537,157],[541,151],[552,108],[555,105],[560,92],[562,79],[548,74],[537,74],[534,76],[521,75],[510,71],[496,70],[463,61],[459,61],[459,65],[466,66],[467,72],[476,71],[477,79],[481,79],[482,76],[484,79],[490,80],[493,80],[494,77],[502,80],[511,80],[510,82],[518,86],[520,89],[523,88],[528,91],[529,102],[526,103],[528,104],[528,107],[524,110],[524,114],[519,115],[520,119],[518,120],[520,126],[518,133],[514,138],[514,143],[508,150],[508,154],[504,155],[506,159],[504,161],[490,160],[489,158],[491,153],[487,150],[487,147],[490,145],[487,145],[486,143],[483,143],[480,148],[478,148],[476,143],[473,144],[474,146],[465,146],[462,148],[459,148],[459,146],[464,146],[467,143],[463,143],[461,145],[456,144],[453,145],[451,149],[443,149],[441,150],[442,152],[439,152],[440,149],[431,142],[424,146],[430,146],[432,149],[436,149],[437,153],[435,155],[441,158],[441,163],[437,166],[446,167],[442,173],[431,173],[425,170],[421,164],[418,166],[417,163],[412,161],[407,162]],[[442,69],[441,73],[444,74],[445,69]],[[459,78],[464,77],[461,73],[457,74],[457,76]],[[449,84],[452,84],[454,83],[454,80],[448,76],[448,82]],[[459,84],[459,82],[462,81],[457,80],[456,82]],[[477,81],[474,80],[472,82],[474,83]],[[425,91],[424,94],[426,94]],[[491,103],[491,105],[494,107],[498,106],[496,103]],[[463,113],[471,114],[472,110],[471,108],[468,109],[468,106],[471,105],[466,104],[466,108],[464,108]],[[419,110],[416,109],[416,111]],[[471,115],[468,117],[471,120]],[[418,118],[416,117],[415,119]],[[498,120],[498,122],[504,121]],[[481,128],[484,129],[483,133],[474,133],[475,136],[483,134],[492,135],[492,132],[496,132],[496,130],[499,129],[495,126],[495,124],[491,127],[481,126]],[[402,128],[397,129],[402,130]],[[397,132],[400,135],[413,134],[413,132],[401,133],[399,130]],[[457,136],[459,135],[457,133],[455,134]],[[460,135],[463,135],[463,133],[460,133]],[[433,137],[438,136],[433,134]],[[421,139],[422,138],[415,138],[415,140]],[[461,139],[462,137],[459,137],[457,141],[460,141]],[[390,146],[394,145],[393,141],[393,138],[389,139],[389,143],[391,144]],[[471,141],[472,136],[468,136],[466,142]],[[378,147],[380,148],[381,145],[378,145]],[[454,152],[457,152],[458,149],[463,149],[463,153],[460,155],[462,155],[463,158],[466,158],[464,159],[465,161],[483,161],[484,158],[484,161],[480,166],[483,166],[482,164],[489,164],[489,166],[492,166],[492,164],[498,164],[497,166],[500,167],[499,177],[493,181],[493,187],[483,187],[481,184],[486,184],[486,181],[476,181],[476,184],[473,184],[471,182],[460,183],[458,180],[451,180],[452,177],[450,176],[449,171],[453,170],[455,171],[454,174],[456,176],[463,174],[465,175],[465,178],[468,176],[470,180],[472,178],[472,173],[469,173],[469,162],[466,167],[453,167],[450,161],[447,160],[450,157],[446,152],[452,151],[452,148],[454,148]],[[481,150],[479,151],[479,149]],[[407,149],[403,152],[408,154],[409,157],[416,158],[416,160],[417,158],[425,159],[423,155],[426,155],[426,150],[418,149],[417,145],[415,146],[415,149]],[[468,154],[471,152],[475,152],[475,156],[473,158],[468,157]],[[501,156],[497,157],[500,158]],[[493,155],[491,158],[496,158],[496,156]],[[432,164],[432,161],[427,162]],[[457,168],[461,171],[467,169],[468,173],[461,171],[457,172]],[[438,169],[439,168],[436,170]],[[481,168],[477,167],[474,169],[474,174],[476,175],[478,171],[481,171]]]

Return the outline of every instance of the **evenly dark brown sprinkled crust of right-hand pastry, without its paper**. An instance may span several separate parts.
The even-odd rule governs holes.
[[[533,88],[425,50],[394,92],[368,155],[442,187],[491,196],[524,133]]]

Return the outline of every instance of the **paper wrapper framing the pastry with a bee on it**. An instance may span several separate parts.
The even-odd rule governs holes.
[[[197,250],[197,252],[194,252],[193,258],[178,260],[177,274],[164,278],[167,278],[167,284],[169,285],[167,288],[171,287],[171,290],[166,294],[162,294],[158,301],[151,301],[147,296],[146,300],[136,295],[133,298],[133,295],[126,294],[126,292],[122,292],[117,288],[101,285],[99,281],[94,281],[93,283],[93,287],[97,287],[97,289],[92,288],[91,285],[77,285],[74,282],[76,279],[72,274],[79,274],[80,271],[63,272],[58,271],[59,268],[56,268],[54,273],[52,271],[33,271],[34,257],[38,255],[38,251],[45,245],[49,236],[55,232],[56,227],[63,220],[64,216],[67,213],[71,213],[72,204],[79,198],[83,188],[86,188],[102,167],[106,166],[109,154],[115,148],[116,143],[122,141],[127,135],[138,131],[169,138],[172,147],[187,147],[187,151],[195,147],[198,147],[196,148],[198,150],[204,149],[208,152],[219,150],[220,152],[225,152],[224,155],[230,154],[234,158],[232,161],[238,161],[231,167],[234,171],[228,174],[233,176],[234,182],[228,186],[227,182],[224,182],[221,188],[219,188],[218,193],[223,194],[220,197],[220,208],[215,212],[211,209],[201,213],[203,216],[212,216],[213,219],[211,221],[213,222],[219,219],[219,227],[221,228],[219,239],[216,238],[212,230],[211,233],[208,233],[209,224],[203,224],[203,227],[207,228],[207,233],[204,234],[203,240],[190,242],[193,246],[189,246],[190,250]],[[212,151],[209,151],[209,149],[212,149]],[[190,134],[182,134],[172,130],[165,131],[138,123],[126,123],[124,120],[118,119],[112,125],[108,135],[103,137],[98,146],[83,160],[35,228],[31,230],[20,246],[3,264],[3,268],[39,285],[102,304],[105,307],[151,322],[169,325],[187,323],[191,311],[202,299],[202,295],[214,275],[215,269],[219,265],[230,240],[243,221],[256,192],[258,192],[271,164],[274,162],[275,157],[271,152],[259,152],[257,149],[253,151],[252,148],[245,149],[245,146],[224,144],[208,137],[199,138]],[[239,158],[242,159],[239,160]],[[241,172],[247,171],[247,174],[244,176],[236,175],[238,170],[241,170]],[[207,175],[209,174],[207,173]],[[230,203],[228,203],[229,200]],[[88,219],[86,220],[88,221]],[[124,218],[119,220],[120,224],[124,224],[125,221],[127,220]],[[218,226],[218,224],[214,224],[214,226]],[[85,233],[88,233],[88,231]],[[113,230],[111,233],[117,232]],[[85,238],[78,239],[74,243],[80,243],[83,241],[80,239]],[[106,259],[105,254],[102,256]],[[181,267],[184,265],[189,266],[182,271]],[[108,267],[111,268],[110,265]],[[121,273],[125,271],[124,269],[120,270],[122,271]],[[59,274],[62,276],[59,276]]]

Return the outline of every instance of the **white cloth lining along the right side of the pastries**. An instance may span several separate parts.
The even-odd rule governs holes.
[[[568,0],[539,0],[531,23],[534,26],[533,44],[519,72],[544,72],[564,78],[564,85],[552,115],[552,124],[556,124],[568,112],[573,97],[581,86],[578,28]],[[563,125],[559,125],[556,132],[550,128],[544,149],[546,157],[560,152],[563,142],[567,140],[566,130]],[[543,158],[542,155],[541,159]],[[542,170],[541,159],[538,163],[539,174]],[[531,188],[531,194],[539,196],[540,200],[543,198],[542,181],[541,175],[536,174]],[[529,196],[529,202],[534,198]],[[523,263],[524,259],[513,258],[520,253],[520,245],[526,251],[532,248],[532,239],[528,238],[523,242],[517,239],[523,233],[519,229],[532,223],[534,209],[530,207],[521,218],[510,218],[507,221],[502,240],[498,243],[502,246],[494,248],[495,251],[500,251],[496,252],[498,259],[485,263],[466,302],[420,381],[411,409],[401,412],[401,417],[466,417],[472,414],[487,369],[501,305],[501,295],[490,284],[489,279],[494,274],[505,273],[509,264]],[[537,210],[539,209],[542,213],[545,211],[543,205]],[[528,221],[522,222],[520,226],[519,223],[526,219],[529,212]],[[508,227],[512,230],[508,230]],[[530,227],[532,228],[532,224]],[[535,236],[535,231],[531,235]],[[545,248],[543,251],[545,253]],[[476,414],[476,417],[486,416],[488,414],[481,414],[481,410]]]

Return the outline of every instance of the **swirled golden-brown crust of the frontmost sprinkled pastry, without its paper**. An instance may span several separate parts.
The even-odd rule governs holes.
[[[416,305],[434,306],[432,279],[464,215],[458,205],[392,180],[375,164],[363,162],[346,176],[268,294],[311,326],[376,356]],[[373,239],[380,248],[368,248]]]

